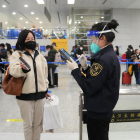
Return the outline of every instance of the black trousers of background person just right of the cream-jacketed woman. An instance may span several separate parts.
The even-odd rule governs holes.
[[[55,68],[48,68],[49,86],[54,86],[54,72]]]

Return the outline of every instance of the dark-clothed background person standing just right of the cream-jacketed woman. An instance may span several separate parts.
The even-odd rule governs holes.
[[[46,57],[47,61],[54,62],[57,51],[54,49],[52,45],[46,46],[46,50],[48,51],[48,56]],[[54,72],[56,67],[57,66],[54,64],[48,64],[49,88],[54,88]]]

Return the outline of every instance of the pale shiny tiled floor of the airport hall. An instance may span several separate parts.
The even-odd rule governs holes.
[[[70,75],[70,70],[66,66],[64,65],[59,66],[58,69],[59,69],[59,87],[50,90],[52,91],[52,94],[56,94],[60,99],[60,111],[63,119],[64,128],[56,129],[55,133],[78,133],[79,131],[78,107],[79,107],[80,88],[77,85],[74,78]],[[125,66],[122,66],[122,71],[124,70]],[[121,85],[120,89],[121,93],[128,92],[140,93],[140,86],[135,85],[134,77],[131,86]],[[120,95],[119,101],[115,109],[140,109],[140,95],[130,95],[130,96]],[[2,135],[3,133],[8,134],[8,133],[23,132],[22,122],[6,122],[6,119],[21,119],[21,117],[15,97],[6,95],[0,89],[0,133],[1,133],[0,135]],[[140,131],[140,122],[117,123],[110,125],[110,132],[112,137],[113,135],[120,134],[119,132],[122,131],[123,132]],[[84,132],[86,132],[86,126],[84,126]],[[115,140],[115,138],[113,140]],[[138,138],[135,137],[135,140],[138,140]]]

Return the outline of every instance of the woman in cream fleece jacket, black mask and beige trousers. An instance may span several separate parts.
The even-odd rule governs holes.
[[[30,65],[30,70],[20,62],[19,53]],[[22,93],[16,97],[23,119],[25,140],[40,140],[45,97],[51,97],[47,93],[47,63],[43,55],[36,50],[35,35],[30,30],[23,30],[19,34],[16,51],[10,58],[10,74],[13,77],[25,78]]]

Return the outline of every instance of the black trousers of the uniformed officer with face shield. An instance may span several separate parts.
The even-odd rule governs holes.
[[[89,140],[109,140],[109,124],[111,118],[91,119],[87,118],[87,131]]]

